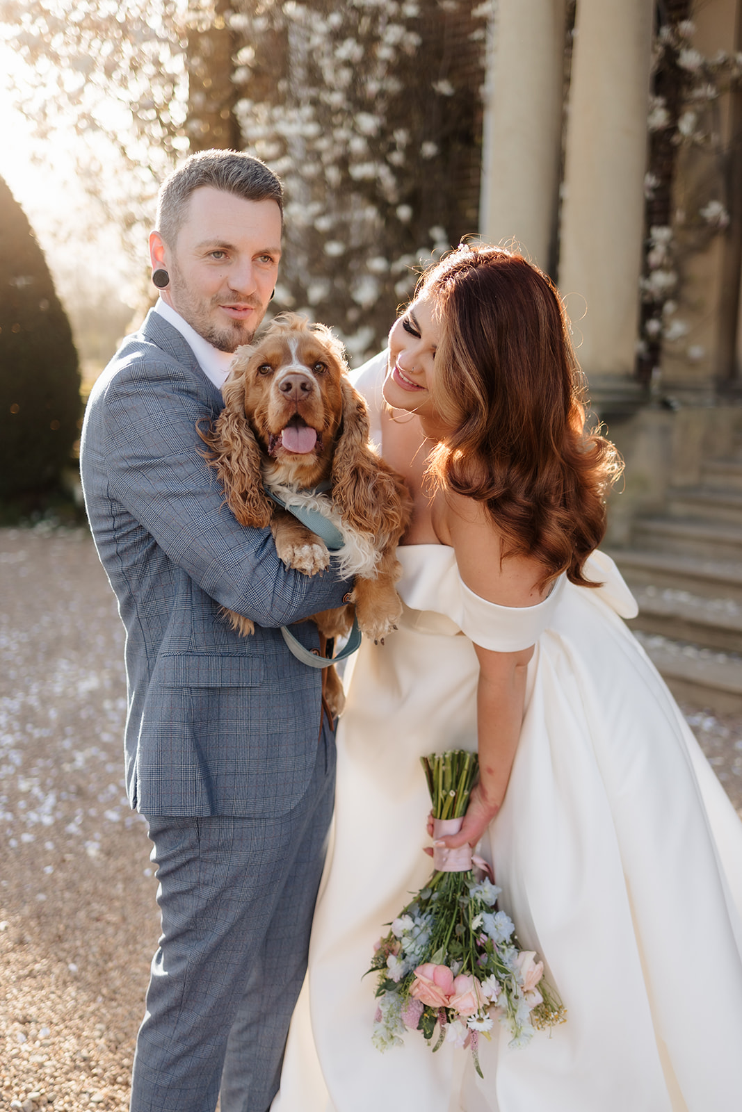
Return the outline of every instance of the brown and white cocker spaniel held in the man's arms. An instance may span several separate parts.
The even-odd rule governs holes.
[[[296,314],[276,317],[257,342],[238,348],[222,387],[225,408],[201,434],[241,525],[270,526],[278,556],[316,575],[329,565],[325,543],[278,506],[317,509],[343,537],[336,553],[345,576],[355,576],[349,605],[314,615],[320,634],[347,634],[353,613],[362,633],[383,638],[402,614],[395,589],[395,548],[409,516],[402,478],[370,448],[366,404],[346,377],[343,346],[324,325]],[[253,622],[227,610],[235,629]],[[325,696],[334,714],[343,689],[327,669]]]

